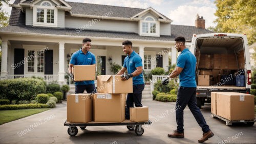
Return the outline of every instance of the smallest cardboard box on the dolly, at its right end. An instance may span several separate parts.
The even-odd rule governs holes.
[[[148,107],[130,107],[130,121],[144,122],[148,121]]]

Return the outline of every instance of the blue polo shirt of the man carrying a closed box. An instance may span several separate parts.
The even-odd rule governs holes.
[[[82,49],[77,50],[72,54],[70,59],[70,64],[72,65],[94,65],[96,64],[95,55],[88,51],[86,54],[82,52]],[[84,72],[86,74],[86,72]],[[78,81],[75,85],[86,85],[94,84],[94,80]]]

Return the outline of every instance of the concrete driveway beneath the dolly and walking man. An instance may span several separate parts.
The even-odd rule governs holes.
[[[125,126],[98,126],[78,130],[74,137],[63,126],[66,120],[66,103],[33,116],[0,125],[0,143],[198,143],[202,131],[188,107],[184,110],[185,138],[169,138],[167,133],[176,129],[175,103],[142,100],[150,108],[153,124],[144,127],[144,134],[137,136]],[[205,143],[255,143],[256,125],[237,124],[211,118],[210,105],[201,109],[215,136]]]

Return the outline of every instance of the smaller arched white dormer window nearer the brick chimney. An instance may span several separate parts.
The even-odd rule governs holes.
[[[140,35],[159,37],[159,21],[152,16],[142,19],[140,21]]]

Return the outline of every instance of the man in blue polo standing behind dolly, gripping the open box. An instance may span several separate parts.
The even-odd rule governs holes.
[[[133,78],[133,93],[127,95],[125,119],[130,119],[130,107],[141,107],[142,91],[145,84],[142,73],[142,60],[138,53],[133,50],[133,43],[131,41],[124,41],[122,43],[123,52],[127,54],[124,59],[122,69],[117,73],[121,75],[122,80]],[[127,70],[127,74],[124,72]]]

